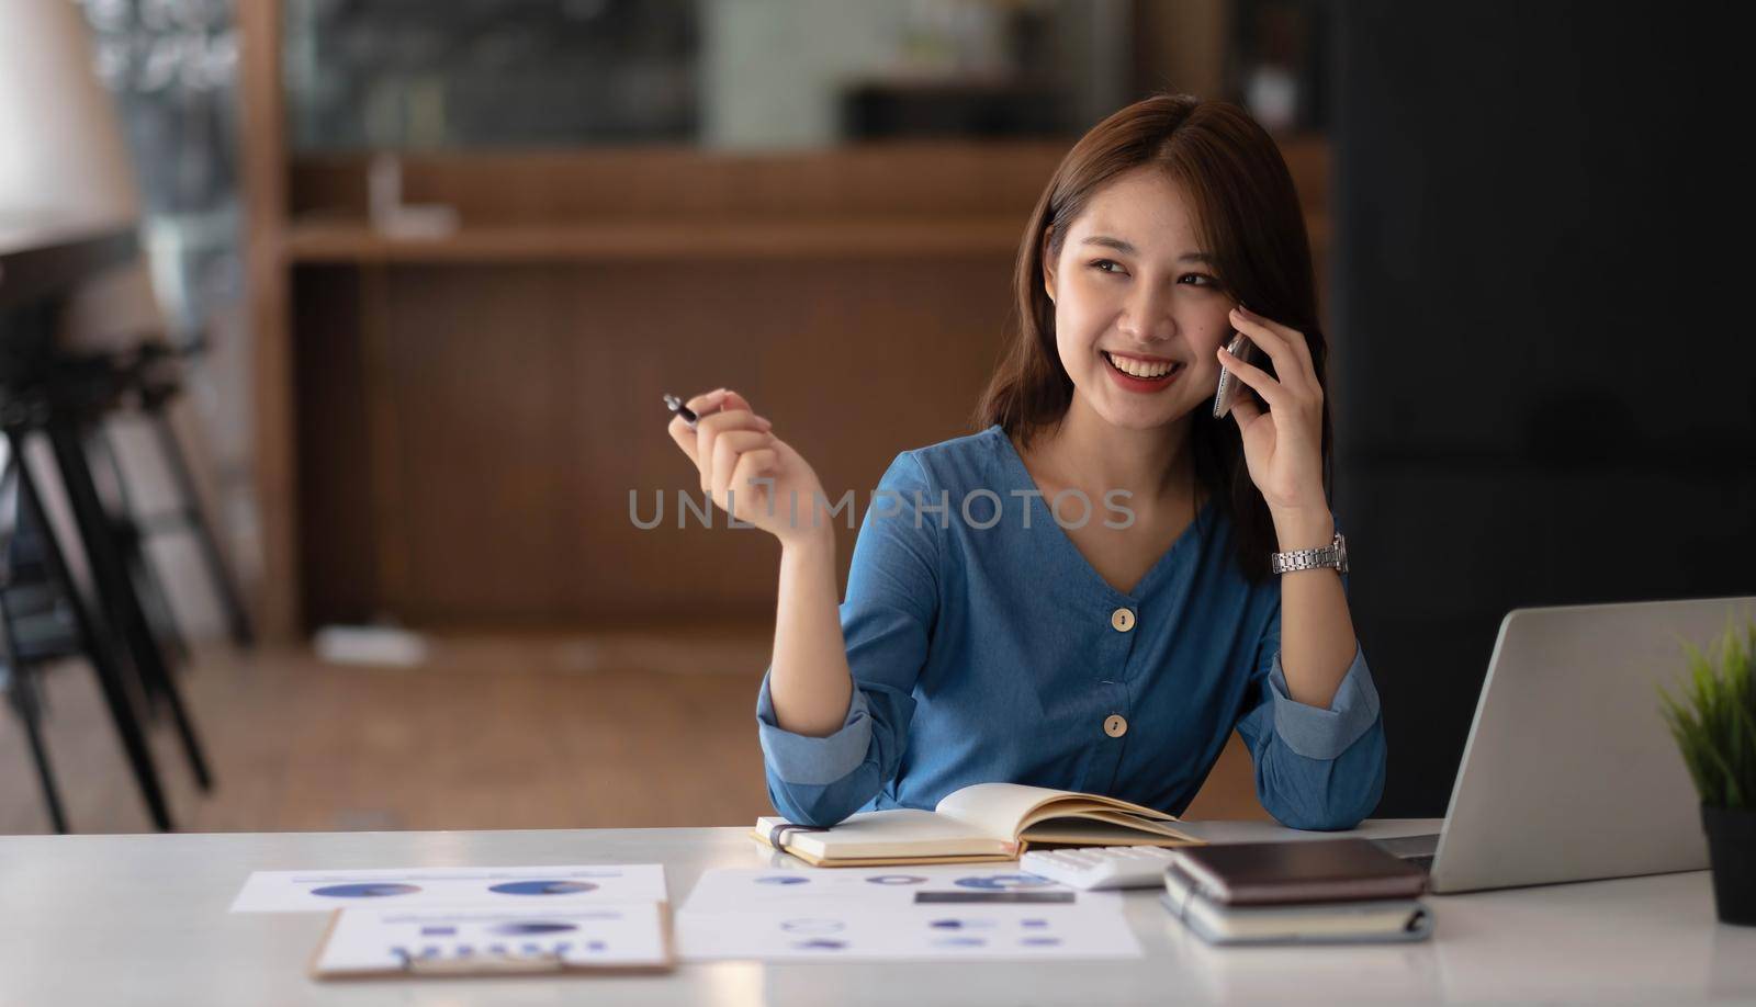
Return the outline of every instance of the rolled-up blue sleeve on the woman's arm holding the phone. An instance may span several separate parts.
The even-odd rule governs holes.
[[[1384,795],[1384,718],[1357,640],[1329,705],[1301,703],[1287,695],[1275,605],[1257,644],[1250,696],[1238,733],[1256,760],[1256,796],[1280,825],[1342,830],[1371,814]]]

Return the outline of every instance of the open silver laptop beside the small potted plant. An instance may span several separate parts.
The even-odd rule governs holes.
[[[1756,618],[1756,596],[1514,609],[1500,623],[1445,825],[1384,840],[1431,891],[1705,870],[1700,800],[1658,689],[1684,640]]]

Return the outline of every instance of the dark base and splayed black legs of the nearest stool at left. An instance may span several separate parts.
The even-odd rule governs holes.
[[[65,828],[60,796],[42,746],[42,693],[37,670],[46,654],[83,653],[97,674],[111,721],[128,767],[140,788],[153,825],[170,830],[170,814],[146,746],[140,711],[163,705],[177,723],[184,754],[197,782],[211,786],[207,761],[195,728],[183,709],[163,656],[146,625],[140,600],[130,584],[114,528],[91,479],[83,435],[114,407],[119,388],[116,367],[107,360],[68,356],[61,344],[67,305],[83,289],[116,268],[139,261],[139,239],[132,223],[86,225],[65,218],[0,221],[0,432],[7,461],[16,465],[14,535],[7,547],[5,672],[11,707],[25,721],[37,760],[39,779],[58,828]],[[53,465],[39,467],[26,446],[46,439]],[[68,567],[65,542],[47,519],[40,489],[58,481],[72,509],[77,540],[90,574],[91,596]],[[5,482],[0,479],[0,482]],[[23,535],[23,539],[21,539]],[[32,577],[37,582],[30,582]],[[32,591],[47,588],[42,609]],[[44,625],[46,637],[33,635]],[[26,625],[32,633],[26,633]]]

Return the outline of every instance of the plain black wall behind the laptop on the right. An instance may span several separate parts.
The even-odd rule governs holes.
[[[1336,512],[1378,814],[1443,814],[1500,619],[1756,593],[1730,5],[1333,7]]]

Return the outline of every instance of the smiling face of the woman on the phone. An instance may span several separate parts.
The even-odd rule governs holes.
[[[1219,281],[1164,172],[1134,168],[1094,193],[1061,251],[1043,253],[1075,407],[1150,430],[1212,402],[1236,304]]]

